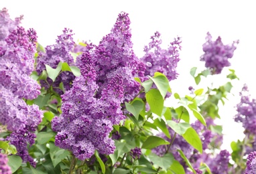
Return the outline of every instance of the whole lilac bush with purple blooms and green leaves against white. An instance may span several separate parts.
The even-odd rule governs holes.
[[[206,92],[187,84],[190,96],[174,92],[180,106],[166,106],[169,82],[178,78],[180,37],[163,49],[156,31],[138,58],[129,15],[121,12],[99,44],[75,43],[65,28],[43,49],[21,19],[0,11],[0,173],[255,173],[255,100],[247,86],[235,116],[245,139],[231,143],[232,153],[220,148],[222,127],[214,123],[231,82]],[[200,60],[220,74],[237,43],[226,46],[207,33]],[[195,70],[195,80],[206,76]]]

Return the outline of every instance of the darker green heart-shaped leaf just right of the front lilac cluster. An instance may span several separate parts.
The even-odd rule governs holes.
[[[143,108],[145,107],[145,104],[141,99],[139,100],[135,98],[135,100],[133,100],[131,104],[129,104],[128,102],[125,102],[125,107],[138,120],[139,113],[141,112],[141,110],[143,110]]]

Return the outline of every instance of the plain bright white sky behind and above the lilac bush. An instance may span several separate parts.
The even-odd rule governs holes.
[[[150,41],[155,31],[162,34],[164,48],[173,41],[174,37],[182,37],[182,51],[178,63],[177,80],[171,82],[173,92],[180,96],[189,94],[188,86],[198,89],[225,83],[229,73],[225,68],[223,74],[210,80],[202,78],[201,85],[196,86],[190,68],[197,66],[204,70],[204,62],[200,62],[202,44],[209,31],[215,40],[218,35],[225,44],[239,39],[240,43],[231,59],[231,69],[236,70],[240,81],[234,81],[229,104],[220,108],[223,124],[223,148],[231,151],[231,141],[243,139],[243,128],[233,122],[234,106],[239,102],[239,92],[243,84],[248,84],[249,90],[256,98],[255,84],[255,5],[253,1],[20,1],[1,0],[0,9],[6,7],[12,19],[23,15],[21,25],[28,29],[33,27],[38,33],[38,42],[48,46],[55,42],[57,35],[64,27],[73,29],[77,41],[92,41],[97,44],[113,27],[117,15],[121,11],[129,13],[133,50],[140,58],[143,47]],[[212,82],[211,82],[212,81]],[[227,102],[228,103],[228,102]],[[256,125],[255,125],[256,126]]]

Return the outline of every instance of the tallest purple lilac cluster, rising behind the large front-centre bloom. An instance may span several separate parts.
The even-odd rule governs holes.
[[[84,53],[90,56],[97,72],[97,96],[101,96],[103,89],[107,88],[117,74],[123,79],[125,100],[131,100],[139,93],[140,84],[134,77],[143,78],[145,66],[132,50],[130,23],[128,14],[120,13],[111,33],[103,37],[98,46],[86,46],[88,50]],[[76,66],[82,68],[80,58],[81,56],[78,56],[76,59]]]

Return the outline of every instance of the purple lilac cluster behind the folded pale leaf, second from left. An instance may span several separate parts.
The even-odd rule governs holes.
[[[74,49],[74,41],[72,33],[72,29],[65,28],[63,30],[62,35],[58,35],[58,39],[56,39],[56,44],[52,46],[46,47],[46,52],[39,52],[37,59],[36,72],[38,75],[42,73],[43,70],[46,70],[46,65],[57,68],[59,62],[67,62],[69,66],[74,65],[74,58],[70,54]],[[64,90],[70,90],[72,86],[72,80],[74,80],[75,76],[72,72],[64,71],[62,72],[54,82],[50,78],[47,78],[47,82],[44,80],[40,80],[41,86],[43,86],[46,90],[52,85],[54,90],[58,92],[58,94],[63,94],[64,92],[60,90],[58,87],[60,82],[63,82]]]

